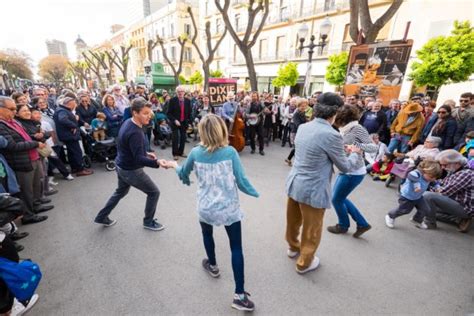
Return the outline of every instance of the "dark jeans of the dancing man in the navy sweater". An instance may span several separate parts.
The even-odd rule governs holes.
[[[96,216],[97,221],[104,220],[112,210],[117,206],[118,202],[128,194],[130,187],[134,187],[147,195],[145,204],[144,224],[149,224],[153,221],[156,212],[156,205],[160,198],[160,190],[150,177],[143,171],[143,168],[135,170],[123,170],[118,166],[115,170],[117,172],[118,187],[114,194],[109,198],[104,208],[99,211]]]

